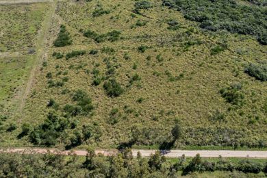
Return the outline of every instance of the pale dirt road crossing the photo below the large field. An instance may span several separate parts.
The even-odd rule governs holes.
[[[47,153],[50,151],[55,154],[77,154],[80,156],[85,156],[87,152],[85,150],[73,150],[73,151],[58,151],[55,149],[0,149],[0,152],[8,152],[8,153]],[[136,156],[138,151],[140,151],[143,157],[148,157],[149,155],[155,153],[155,150],[132,150],[133,156]],[[97,154],[101,153],[103,155],[114,155],[118,153],[117,150],[97,150],[95,151]],[[229,151],[229,150],[171,150],[171,151],[161,151],[162,155],[166,157],[181,157],[181,155],[186,155],[186,157],[194,157],[197,153],[201,155],[201,157],[251,157],[251,158],[267,158],[267,151]]]

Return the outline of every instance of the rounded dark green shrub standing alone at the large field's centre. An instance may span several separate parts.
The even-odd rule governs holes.
[[[105,92],[109,97],[119,97],[120,94],[123,94],[123,88],[116,81],[116,79],[110,79],[104,83]]]

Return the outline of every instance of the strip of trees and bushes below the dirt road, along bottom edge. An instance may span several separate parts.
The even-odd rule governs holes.
[[[265,177],[266,173],[266,160],[199,155],[168,160],[160,152],[133,157],[128,149],[108,157],[92,150],[86,157],[0,153],[1,177]]]

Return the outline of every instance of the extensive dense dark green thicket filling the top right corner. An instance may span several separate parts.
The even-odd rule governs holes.
[[[233,0],[162,0],[162,5],[180,10],[185,18],[212,31],[253,35],[262,44],[266,38],[266,10],[263,6],[242,5]]]

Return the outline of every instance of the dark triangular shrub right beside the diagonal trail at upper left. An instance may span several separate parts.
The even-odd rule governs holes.
[[[58,38],[55,39],[54,45],[55,47],[66,47],[67,45],[72,44],[71,37],[69,33],[66,31],[66,27],[64,25],[60,26],[60,33],[58,34]]]

